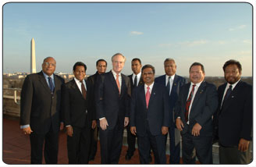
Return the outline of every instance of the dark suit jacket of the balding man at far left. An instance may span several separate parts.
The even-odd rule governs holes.
[[[59,130],[61,98],[64,80],[54,74],[55,90],[52,94],[42,71],[26,77],[20,95],[20,125],[30,125],[34,133]]]

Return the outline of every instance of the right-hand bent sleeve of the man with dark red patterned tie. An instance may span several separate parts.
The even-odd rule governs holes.
[[[201,112],[201,114],[197,115],[195,118],[196,122],[201,126],[204,126],[204,123],[211,119],[212,115],[216,111],[218,107],[218,93],[216,91],[216,87],[214,85],[209,85],[206,89],[206,99],[205,106]]]

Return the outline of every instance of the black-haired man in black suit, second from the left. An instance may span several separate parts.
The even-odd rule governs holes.
[[[73,66],[75,77],[65,84],[63,92],[69,164],[88,164],[91,129],[96,126],[92,110],[94,92],[91,84],[84,80],[86,69],[83,62],[76,62]]]

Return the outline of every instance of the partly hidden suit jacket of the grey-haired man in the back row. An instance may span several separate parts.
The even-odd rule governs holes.
[[[162,84],[163,86],[165,86],[166,75],[158,76],[157,78],[155,78],[155,83]],[[187,84],[187,80],[182,76],[178,76],[177,74],[175,74],[174,80],[172,83],[172,91],[171,91],[171,94],[169,94],[169,103],[170,103],[170,111],[171,111],[171,119],[172,119],[171,126],[174,126],[174,123],[175,123],[173,110],[174,110],[176,101],[178,100],[180,89],[183,86],[183,84]]]

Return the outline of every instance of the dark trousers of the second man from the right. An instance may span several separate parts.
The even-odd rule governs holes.
[[[183,163],[195,164],[196,155],[201,164],[212,164],[212,137],[194,137],[187,130],[182,135]]]

